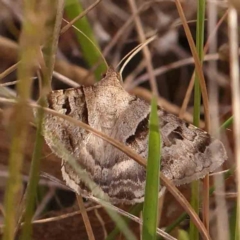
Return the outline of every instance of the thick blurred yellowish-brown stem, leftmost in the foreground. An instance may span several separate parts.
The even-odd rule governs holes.
[[[9,179],[7,189],[4,196],[4,240],[14,239],[16,230],[16,199],[19,198],[21,189],[22,163],[24,159],[24,149],[27,146],[28,128],[29,128],[29,112],[27,105],[31,96],[31,85],[33,69],[36,66],[37,52],[40,46],[40,38],[38,25],[36,21],[31,21],[30,16],[37,17],[34,11],[35,1],[23,1],[24,21],[22,32],[19,40],[19,57],[17,95],[18,103],[13,108],[12,116],[12,140],[9,152]]]

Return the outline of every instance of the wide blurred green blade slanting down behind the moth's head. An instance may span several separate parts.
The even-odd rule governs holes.
[[[78,0],[66,0],[65,12],[69,19],[74,19],[76,16],[83,12],[81,3]],[[80,29],[84,34],[86,34],[95,44],[95,46],[85,38],[80,32],[75,31],[78,43],[81,47],[83,58],[89,67],[100,63],[95,70],[96,79],[100,80],[102,73],[106,71],[106,65],[102,62],[102,57],[97,51],[96,47],[99,48],[98,43],[94,37],[92,28],[86,17],[77,20],[74,25]]]

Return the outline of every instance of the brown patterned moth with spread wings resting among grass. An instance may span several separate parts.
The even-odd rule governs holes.
[[[48,107],[89,124],[147,158],[150,105],[125,91],[112,68],[93,86],[52,91],[48,95]],[[176,185],[204,177],[227,159],[222,142],[212,139],[207,132],[160,107],[158,116],[162,136],[161,172]],[[43,129],[52,151],[60,156],[52,141],[54,136],[113,204],[144,200],[146,170],[126,154],[51,114],[46,114]],[[62,159],[62,175],[69,187],[86,195],[88,189],[66,157]]]

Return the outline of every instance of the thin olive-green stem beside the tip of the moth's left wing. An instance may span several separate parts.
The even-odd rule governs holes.
[[[50,5],[49,5],[50,4]],[[43,79],[42,79],[42,96],[40,98],[39,104],[42,107],[46,107],[45,94],[51,90],[51,79],[52,72],[55,63],[55,55],[57,51],[57,44],[59,33],[62,23],[62,15],[64,9],[64,1],[51,1],[45,8],[53,9],[49,12],[46,12],[46,22],[48,22],[45,28],[45,45],[44,45],[44,59],[47,68],[43,68]],[[55,11],[57,9],[57,11]],[[44,11],[44,10],[43,10]],[[26,190],[26,210],[24,214],[24,226],[21,233],[22,240],[30,240],[32,238],[32,218],[34,214],[34,203],[37,193],[37,186],[39,180],[39,171],[40,171],[40,161],[41,161],[41,151],[44,144],[44,139],[41,135],[42,133],[42,123],[44,118],[44,110],[39,108],[37,111],[37,133],[36,141],[34,146],[34,152],[31,161],[31,169],[29,182]]]

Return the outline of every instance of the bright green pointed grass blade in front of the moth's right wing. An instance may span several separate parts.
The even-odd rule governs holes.
[[[149,123],[148,162],[143,205],[142,239],[156,239],[158,217],[159,174],[161,159],[161,138],[159,133],[159,118],[157,114],[157,100],[154,97],[151,103]]]

